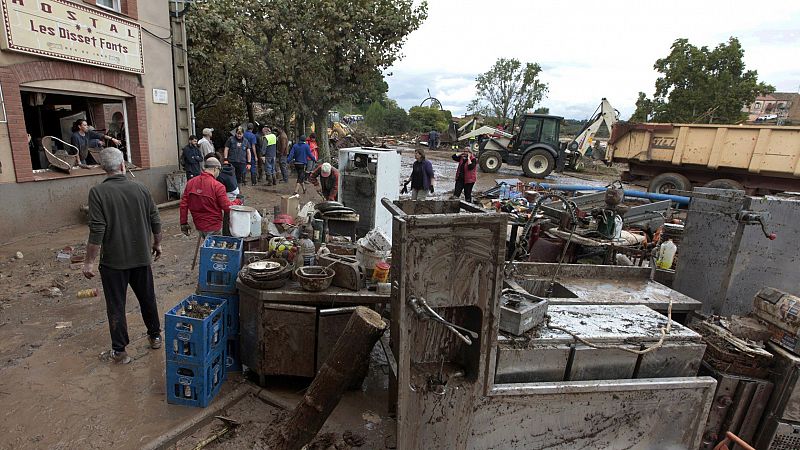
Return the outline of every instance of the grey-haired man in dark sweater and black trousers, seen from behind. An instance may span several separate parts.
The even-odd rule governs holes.
[[[161,323],[156,304],[153,261],[161,256],[161,218],[146,187],[125,176],[122,152],[100,152],[106,179],[89,190],[89,240],[83,275],[94,278],[94,261],[100,255],[100,280],[106,298],[111,350],[103,359],[127,364],[129,344],[125,317],[128,285],[139,300],[150,348],[161,347]],[[151,241],[152,233],[152,241]]]

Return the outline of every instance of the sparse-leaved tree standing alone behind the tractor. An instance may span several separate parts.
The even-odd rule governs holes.
[[[475,79],[478,98],[467,110],[476,114],[493,115],[500,122],[511,122],[532,109],[547,94],[547,83],[539,76],[537,63],[522,64],[518,59],[499,58],[485,73]]]

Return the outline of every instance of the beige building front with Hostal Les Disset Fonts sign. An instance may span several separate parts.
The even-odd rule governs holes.
[[[0,216],[4,238],[82,220],[98,168],[48,169],[76,120],[115,136],[157,202],[177,166],[169,4],[0,0]],[[105,142],[110,145],[110,142]],[[48,147],[49,148],[46,148]],[[91,162],[91,161],[89,161]]]

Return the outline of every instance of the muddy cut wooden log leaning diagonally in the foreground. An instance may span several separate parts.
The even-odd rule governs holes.
[[[353,311],[303,400],[271,439],[270,449],[299,450],[314,439],[385,330],[386,322],[377,312],[363,306]]]

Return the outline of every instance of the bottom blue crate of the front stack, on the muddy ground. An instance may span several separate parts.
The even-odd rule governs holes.
[[[208,406],[228,378],[226,360],[226,349],[222,346],[206,364],[167,361],[167,403],[199,408]]]

